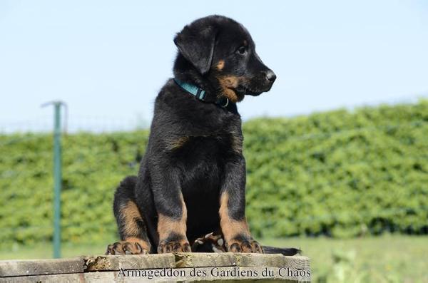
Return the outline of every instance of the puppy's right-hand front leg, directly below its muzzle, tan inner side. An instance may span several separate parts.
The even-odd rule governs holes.
[[[251,236],[245,219],[245,159],[242,155],[225,165],[219,213],[228,252],[263,253],[260,244]]]

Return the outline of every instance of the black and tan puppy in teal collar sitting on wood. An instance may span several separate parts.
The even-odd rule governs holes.
[[[218,249],[263,252],[245,220],[245,159],[236,103],[269,91],[275,73],[248,31],[224,16],[185,26],[170,79],[156,98],[138,177],[116,190],[121,242],[108,254],[198,251],[214,232]],[[200,238],[200,239],[198,239]],[[223,245],[224,244],[224,245]],[[200,249],[203,250],[203,249]],[[265,248],[295,254],[296,249]]]

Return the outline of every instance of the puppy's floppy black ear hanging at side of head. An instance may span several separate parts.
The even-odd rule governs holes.
[[[202,29],[185,26],[174,38],[180,53],[203,75],[208,73],[213,61],[215,34],[213,26],[204,26]]]

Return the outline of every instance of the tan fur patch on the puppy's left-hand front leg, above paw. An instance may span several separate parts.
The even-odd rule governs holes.
[[[187,221],[187,208],[185,207],[185,202],[183,200],[183,195],[180,194],[181,199],[181,217],[178,220],[175,220],[173,218],[170,218],[168,216],[162,215],[159,213],[158,218],[158,233],[159,233],[159,239],[164,240],[170,235],[171,233],[175,233],[178,235],[183,235],[185,237],[186,232],[186,221]]]

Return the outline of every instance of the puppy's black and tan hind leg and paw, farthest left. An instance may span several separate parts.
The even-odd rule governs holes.
[[[136,177],[126,177],[114,194],[113,211],[118,223],[120,242],[108,245],[106,254],[148,254],[151,243],[143,216],[136,205]]]

